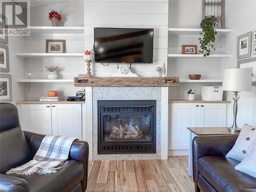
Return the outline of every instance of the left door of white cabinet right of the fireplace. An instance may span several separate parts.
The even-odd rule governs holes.
[[[188,150],[190,145],[187,127],[199,125],[198,103],[173,103],[170,105],[170,149]]]

